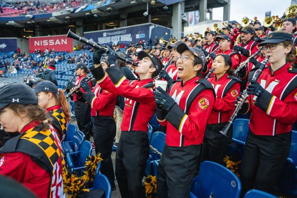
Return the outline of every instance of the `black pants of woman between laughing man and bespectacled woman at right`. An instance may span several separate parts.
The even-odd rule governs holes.
[[[224,136],[219,131],[221,131],[227,123],[228,122],[206,125],[201,162],[208,160],[223,164],[225,150],[230,144],[232,127],[229,128],[227,133],[228,137]]]

